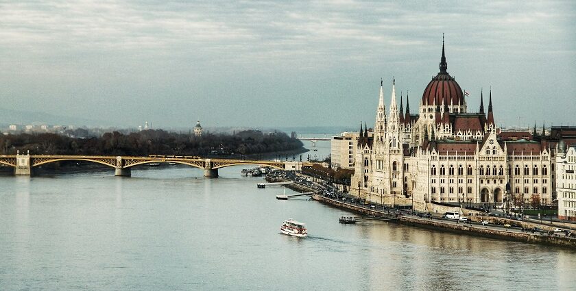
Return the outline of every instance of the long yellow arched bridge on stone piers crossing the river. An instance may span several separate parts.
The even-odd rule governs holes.
[[[185,164],[194,168],[204,169],[204,177],[218,177],[218,169],[226,166],[259,165],[270,166],[282,170],[300,170],[302,162],[281,162],[269,160],[235,160],[235,159],[210,159],[202,157],[190,157],[182,155],[149,155],[147,157],[132,156],[105,156],[105,155],[0,155],[0,164],[14,167],[14,175],[32,175],[34,169],[60,161],[84,161],[102,164],[115,169],[116,176],[130,177],[132,167],[141,164],[173,162]]]

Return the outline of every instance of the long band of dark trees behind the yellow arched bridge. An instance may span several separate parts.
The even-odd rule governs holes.
[[[108,132],[100,137],[77,138],[60,134],[16,134],[0,136],[4,155],[250,155],[293,151],[303,144],[284,132],[264,134],[259,130],[230,134],[176,134],[161,129],[130,134]]]

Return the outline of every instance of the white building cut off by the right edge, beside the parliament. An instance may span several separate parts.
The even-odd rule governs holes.
[[[576,220],[576,145],[565,147],[564,141],[560,142],[556,156],[558,218]]]

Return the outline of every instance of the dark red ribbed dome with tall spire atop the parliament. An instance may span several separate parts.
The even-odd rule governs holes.
[[[425,105],[458,105],[464,104],[464,92],[456,80],[448,75],[448,64],[444,55],[444,40],[442,40],[442,58],[440,59],[440,72],[424,89],[422,104]]]

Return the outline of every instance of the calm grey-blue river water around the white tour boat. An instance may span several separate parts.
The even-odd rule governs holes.
[[[0,177],[0,290],[576,287],[576,251],[382,221],[340,225],[352,214],[278,201],[283,190],[257,189],[261,178],[240,170]],[[309,237],[279,234],[287,218],[307,223]]]

